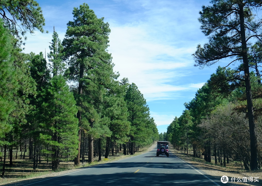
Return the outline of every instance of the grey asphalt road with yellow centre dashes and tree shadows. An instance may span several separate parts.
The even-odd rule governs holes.
[[[59,177],[51,177],[30,186],[102,186],[151,185],[173,186],[223,185],[219,177],[205,176],[203,172],[183,162],[177,156],[160,155],[156,148],[142,155],[91,168],[81,169]]]

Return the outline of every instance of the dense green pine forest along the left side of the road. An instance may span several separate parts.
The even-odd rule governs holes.
[[[2,177],[14,158],[56,171],[61,161],[101,161],[119,148],[133,155],[159,139],[143,94],[113,71],[109,24],[87,4],[73,9],[63,41],[54,25],[47,56],[23,53],[26,32],[47,32],[36,1],[1,1],[0,14]]]

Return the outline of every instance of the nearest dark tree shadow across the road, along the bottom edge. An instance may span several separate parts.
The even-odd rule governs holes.
[[[83,186],[83,185],[92,185],[92,186],[102,186],[102,185],[121,185],[121,186],[130,186],[130,185],[150,185],[150,186],[162,186],[162,185],[194,185],[194,186],[211,186],[216,185],[214,182],[206,179],[201,174],[158,174],[158,173],[131,173],[131,172],[122,172],[122,173],[108,173],[108,174],[82,174],[75,175],[75,173],[64,175],[61,177],[55,178],[45,178],[43,180],[37,180],[38,183],[33,183],[31,186]],[[220,181],[220,178],[214,178],[215,181]],[[34,180],[32,180],[34,181]],[[36,181],[36,180],[35,180]],[[23,185],[25,181],[20,181],[6,186],[11,185]]]

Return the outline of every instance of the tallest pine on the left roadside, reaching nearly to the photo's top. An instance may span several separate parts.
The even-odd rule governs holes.
[[[69,81],[77,84],[73,89],[79,108],[77,118],[80,128],[85,124],[90,129],[94,127],[94,123],[99,122],[100,116],[96,108],[100,107],[106,93],[105,86],[110,84],[113,74],[111,54],[106,51],[110,29],[108,23],[104,23],[103,18],[98,19],[86,3],[74,8],[73,16],[74,20],[67,24],[63,40],[65,57],[69,61],[69,69],[65,74]],[[79,141],[80,139],[81,129]],[[89,162],[93,161],[93,140],[89,133]],[[79,163],[80,143],[79,153],[75,158],[75,164]]]

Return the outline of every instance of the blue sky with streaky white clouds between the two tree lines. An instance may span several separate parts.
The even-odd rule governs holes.
[[[110,25],[114,70],[127,77],[144,95],[159,133],[166,132],[184,103],[210,78],[220,63],[199,69],[192,54],[207,42],[198,22],[202,5],[209,0],[37,0],[48,34],[28,34],[26,53],[50,52],[53,26],[61,41],[74,7],[87,3],[98,18]]]

